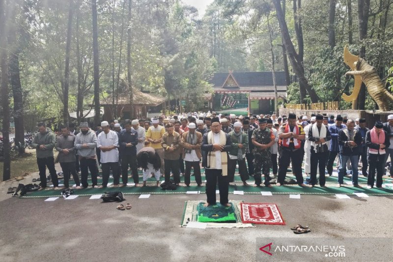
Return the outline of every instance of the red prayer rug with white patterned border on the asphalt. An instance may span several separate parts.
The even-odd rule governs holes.
[[[277,204],[240,203],[243,223],[285,225]]]

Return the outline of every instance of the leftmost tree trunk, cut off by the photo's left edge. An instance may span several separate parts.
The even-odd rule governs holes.
[[[9,2],[8,2],[9,3]],[[9,3],[10,4],[10,3]],[[0,96],[2,108],[2,136],[3,136],[3,181],[11,178],[11,156],[9,146],[9,99],[8,99],[8,47],[7,47],[7,19],[5,3],[0,0]]]

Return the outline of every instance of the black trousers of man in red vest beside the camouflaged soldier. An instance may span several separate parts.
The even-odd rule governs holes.
[[[286,169],[289,163],[292,162],[292,173],[296,176],[297,183],[303,184],[302,160],[302,152],[300,149],[293,151],[282,148],[279,159],[279,177],[277,181],[281,185],[284,183]]]

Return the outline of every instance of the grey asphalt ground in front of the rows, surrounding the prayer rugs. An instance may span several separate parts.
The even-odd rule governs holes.
[[[123,204],[78,197],[54,202],[45,199],[0,199],[0,261],[255,261],[258,237],[393,237],[393,197],[337,199],[334,196],[229,195],[230,200],[277,204],[285,226],[255,225],[239,229],[179,227],[184,202],[205,195],[127,195]],[[296,235],[290,228],[309,226]],[[375,254],[389,261],[392,254]],[[292,261],[290,257],[286,261]],[[317,259],[305,260],[317,261]],[[344,261],[350,261],[350,258]]]

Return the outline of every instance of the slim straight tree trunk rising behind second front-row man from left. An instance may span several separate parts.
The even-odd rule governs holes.
[[[71,52],[71,37],[72,37],[72,16],[73,4],[69,0],[68,10],[68,24],[67,24],[67,41],[65,44],[65,66],[64,66],[64,91],[63,91],[63,123],[68,124],[68,89],[70,85],[70,52]]]

